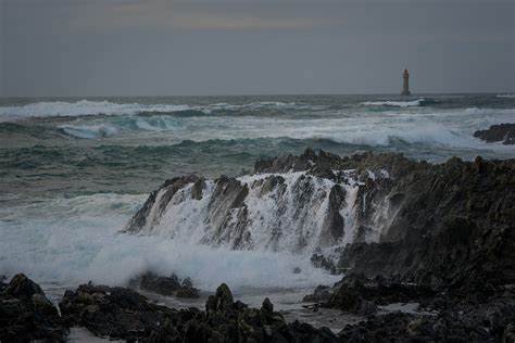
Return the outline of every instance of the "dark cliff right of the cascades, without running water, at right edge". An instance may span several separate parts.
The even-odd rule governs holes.
[[[379,243],[346,247],[339,267],[431,287],[515,283],[515,161],[451,158],[400,177]]]

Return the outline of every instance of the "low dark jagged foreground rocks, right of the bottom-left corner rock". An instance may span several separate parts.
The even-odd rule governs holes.
[[[221,284],[210,296],[205,312],[175,310],[151,303],[123,288],[84,284],[68,291],[60,304],[68,325],[88,328],[99,336],[139,342],[338,342],[327,328],[287,323],[265,298],[249,308],[235,302]]]

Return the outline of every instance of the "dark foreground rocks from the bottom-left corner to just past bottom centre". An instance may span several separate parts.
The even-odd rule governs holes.
[[[23,274],[2,289],[2,342],[65,342],[73,327],[127,342],[338,342],[327,328],[287,323],[268,298],[261,308],[249,308],[234,300],[225,283],[209,297],[204,310],[177,310],[128,288],[88,283],[66,291],[58,313],[41,288]]]

